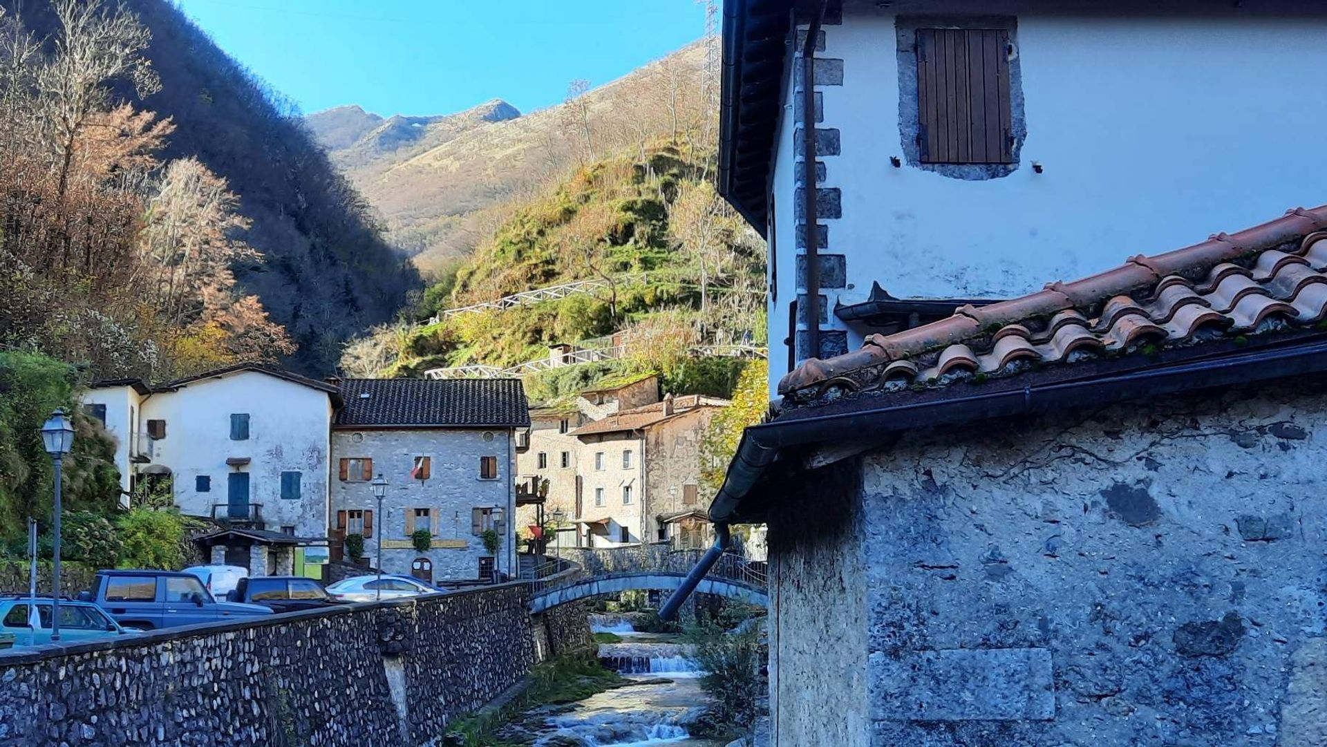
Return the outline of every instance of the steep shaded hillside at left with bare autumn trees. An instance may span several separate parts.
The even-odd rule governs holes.
[[[88,210],[122,231],[118,255],[98,256],[102,248],[85,245],[81,267],[69,267],[66,249],[32,257],[7,240],[11,260],[36,259],[29,267],[38,276],[77,273],[94,291],[74,326],[88,334],[113,326],[123,338],[118,345],[129,348],[114,356],[100,350],[101,333],[101,341],[66,346],[64,357],[81,356],[105,375],[159,378],[255,357],[324,373],[345,338],[390,318],[417,287],[414,269],[382,240],[299,113],[174,5],[74,3],[64,21],[62,0],[0,5],[9,45],[8,113],[19,117],[7,122],[13,127],[7,134],[33,149],[23,157],[31,158],[25,169],[45,171],[41,178],[54,179],[56,196],[68,199],[60,195],[68,191],[60,169],[49,171],[52,157],[64,159],[86,176],[80,184],[111,200],[115,218],[92,204]],[[84,41],[68,40],[70,13],[82,19]],[[111,17],[131,33],[98,33]],[[113,64],[76,69],[105,60],[73,60],[65,53],[70,44],[110,45],[98,53]],[[61,72],[78,77],[77,96],[52,82]],[[31,111],[20,117],[20,110]],[[58,137],[50,139],[52,131]],[[9,204],[16,204],[12,194]],[[57,208],[53,220],[68,223],[72,210]],[[167,219],[166,210],[176,212]],[[183,239],[180,222],[196,228],[196,245]],[[157,267],[134,267],[141,263]],[[199,273],[204,267],[207,276]],[[159,303],[157,293],[174,297]],[[96,317],[90,326],[89,314]],[[265,314],[261,325],[256,314]],[[24,334],[15,324],[5,325],[5,337]],[[253,344],[227,342],[245,336]]]

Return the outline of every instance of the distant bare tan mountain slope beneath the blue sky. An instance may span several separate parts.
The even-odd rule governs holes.
[[[644,159],[657,138],[679,139],[714,103],[705,52],[693,44],[597,88],[572,81],[567,103],[523,115],[495,100],[445,117],[384,119],[341,106],[308,121],[382,214],[393,244],[435,272],[478,247],[512,203],[536,198],[572,167],[622,150]],[[377,142],[376,130],[406,127],[414,137]]]

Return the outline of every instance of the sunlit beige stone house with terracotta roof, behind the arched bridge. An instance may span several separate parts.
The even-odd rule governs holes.
[[[581,442],[577,547],[670,540],[677,527],[690,528],[699,508],[699,442],[727,403],[667,395],[572,431]]]

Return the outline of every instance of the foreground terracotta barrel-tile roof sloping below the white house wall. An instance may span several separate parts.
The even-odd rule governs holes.
[[[1314,325],[1327,318],[1327,206],[990,304],[861,349],[808,360],[783,377],[791,405],[869,390],[945,386],[1030,365],[1066,364],[1145,346]]]

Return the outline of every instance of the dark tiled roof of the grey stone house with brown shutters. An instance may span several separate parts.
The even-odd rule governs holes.
[[[336,427],[528,427],[519,378],[348,378]]]

